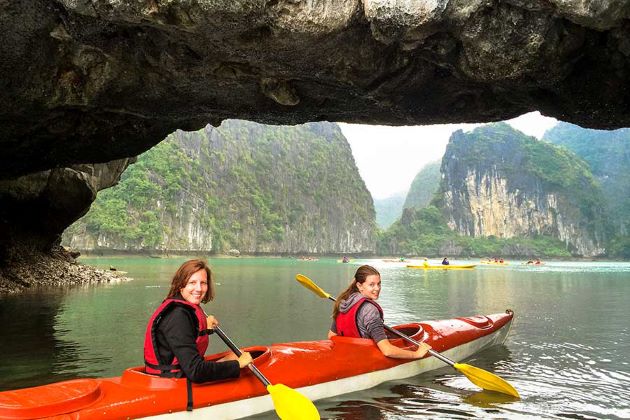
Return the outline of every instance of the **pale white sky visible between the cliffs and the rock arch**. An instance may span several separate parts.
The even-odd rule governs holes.
[[[558,121],[539,112],[530,112],[506,122],[540,139]],[[479,125],[389,127],[339,123],[350,143],[359,173],[375,199],[407,192],[424,165],[442,158],[454,131],[470,131]]]

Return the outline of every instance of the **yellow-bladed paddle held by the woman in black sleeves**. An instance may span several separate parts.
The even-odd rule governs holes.
[[[223,342],[230,348],[230,350],[240,357],[242,352],[236,344],[234,344],[234,342],[225,335],[223,330],[219,328],[219,326],[216,326],[213,329],[214,332],[221,337],[221,340],[223,340]],[[311,420],[320,418],[319,412],[317,411],[317,408],[315,408],[313,402],[304,395],[282,384],[271,385],[271,382],[265,378],[265,375],[263,375],[253,363],[250,363],[247,367],[267,388],[267,391],[273,400],[276,413],[278,413],[278,417],[282,420]]]

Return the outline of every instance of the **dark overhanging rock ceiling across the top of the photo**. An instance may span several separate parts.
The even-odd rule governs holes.
[[[629,14],[621,0],[0,0],[0,179],[132,157],[227,118],[539,110],[630,126]]]

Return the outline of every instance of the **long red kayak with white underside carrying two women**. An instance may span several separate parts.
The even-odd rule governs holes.
[[[461,361],[505,341],[513,313],[427,321],[394,327],[436,351]],[[412,348],[402,339],[392,339]],[[282,383],[312,401],[374,387],[444,367],[435,357],[392,359],[382,355],[370,339],[333,337],[256,346],[246,349],[271,383]],[[226,353],[206,356],[208,360]],[[361,354],[361,357],[357,357]],[[186,380],[160,378],[144,367],[125,370],[122,376],[77,379],[33,388],[0,392],[2,419],[129,419],[205,418],[234,419],[272,411],[271,397],[247,369],[234,380],[193,385],[194,410],[186,411]]]

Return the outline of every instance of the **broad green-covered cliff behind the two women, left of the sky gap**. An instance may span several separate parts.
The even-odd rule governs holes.
[[[65,238],[84,250],[369,253],[374,232],[337,125],[229,120],[140,156]]]

